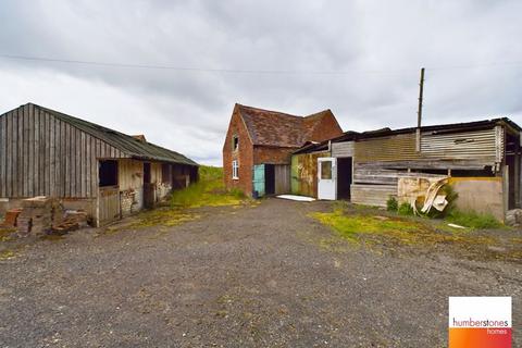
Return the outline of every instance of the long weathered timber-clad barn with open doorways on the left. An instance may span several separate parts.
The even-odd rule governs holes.
[[[0,115],[0,213],[47,196],[103,225],[153,207],[197,177],[196,162],[144,136],[34,103]]]

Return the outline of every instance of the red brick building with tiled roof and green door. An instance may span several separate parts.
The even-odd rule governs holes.
[[[236,103],[223,146],[225,185],[247,196],[287,194],[291,153],[341,134],[331,110],[295,116]]]

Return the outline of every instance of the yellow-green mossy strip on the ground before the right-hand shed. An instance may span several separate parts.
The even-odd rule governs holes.
[[[315,212],[311,216],[332,227],[343,239],[373,249],[378,247],[380,251],[394,251],[398,247],[424,251],[446,249],[456,251],[459,257],[522,262],[522,241],[517,236],[511,236],[510,243],[506,244],[496,234],[474,228],[453,228],[440,220],[382,215],[374,209],[347,211],[337,206],[333,212]],[[320,245],[326,249],[338,249],[332,238],[321,240]]]

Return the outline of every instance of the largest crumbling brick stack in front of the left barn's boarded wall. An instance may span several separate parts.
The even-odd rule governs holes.
[[[62,222],[62,208],[58,200],[45,196],[24,199],[22,212],[16,220],[18,235],[40,235],[51,231],[53,224]]]

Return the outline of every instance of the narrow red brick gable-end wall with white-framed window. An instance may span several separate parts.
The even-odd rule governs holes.
[[[239,149],[233,151],[233,136],[239,139]],[[239,179],[232,178],[232,161],[239,163]],[[237,188],[247,196],[252,195],[253,148],[241,117],[236,111],[232,114],[225,144],[223,145],[223,174],[227,189]]]

